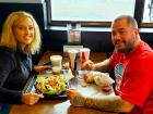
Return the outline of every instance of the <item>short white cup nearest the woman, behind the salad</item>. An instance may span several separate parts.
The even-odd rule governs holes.
[[[51,61],[52,66],[61,67],[62,56],[61,55],[51,55],[50,61]]]

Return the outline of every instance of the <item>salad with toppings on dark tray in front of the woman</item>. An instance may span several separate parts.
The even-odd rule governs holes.
[[[66,90],[69,88],[69,81],[63,74],[40,74],[32,76],[23,92],[43,93],[43,99],[67,98]]]

